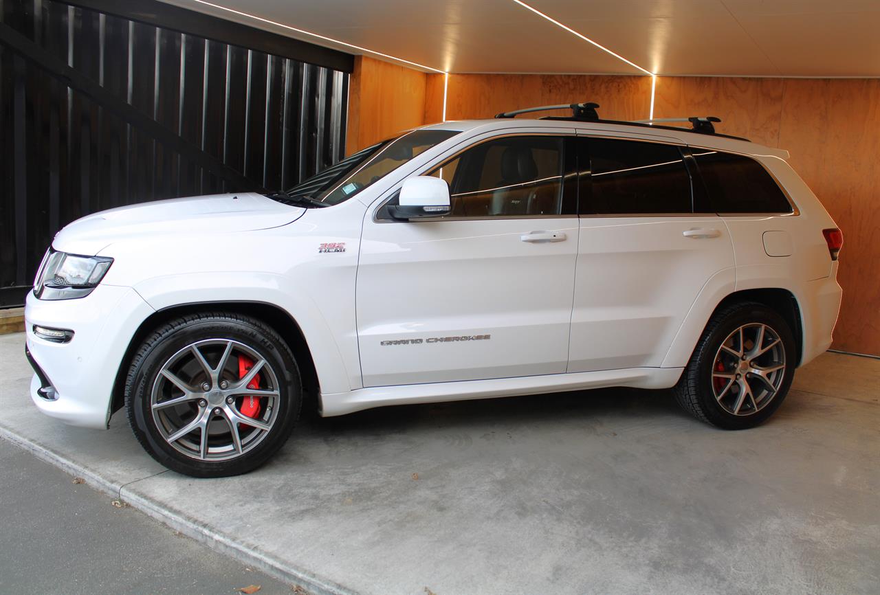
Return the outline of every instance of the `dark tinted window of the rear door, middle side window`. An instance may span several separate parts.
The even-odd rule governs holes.
[[[691,178],[678,147],[597,138],[588,143],[591,173],[583,213],[693,212]]]

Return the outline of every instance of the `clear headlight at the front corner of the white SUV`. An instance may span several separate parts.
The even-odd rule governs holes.
[[[40,300],[70,300],[91,294],[104,279],[113,258],[78,256],[49,249],[40,265],[33,294]]]

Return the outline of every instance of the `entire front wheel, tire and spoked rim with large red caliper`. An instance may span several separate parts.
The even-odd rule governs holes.
[[[302,404],[296,361],[259,320],[182,316],[143,342],[128,373],[128,422],[157,461],[184,475],[259,467],[290,436]]]

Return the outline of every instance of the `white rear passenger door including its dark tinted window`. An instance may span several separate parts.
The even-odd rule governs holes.
[[[580,140],[580,242],[568,372],[660,366],[700,290],[735,284],[724,221],[699,214],[674,142]],[[691,168],[693,169],[693,168]],[[698,188],[699,190],[699,188]]]

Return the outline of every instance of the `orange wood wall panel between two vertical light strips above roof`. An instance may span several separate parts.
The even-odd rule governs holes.
[[[637,120],[648,117],[650,87],[648,76],[450,75],[446,119],[491,118],[534,105],[594,101],[603,118]]]

